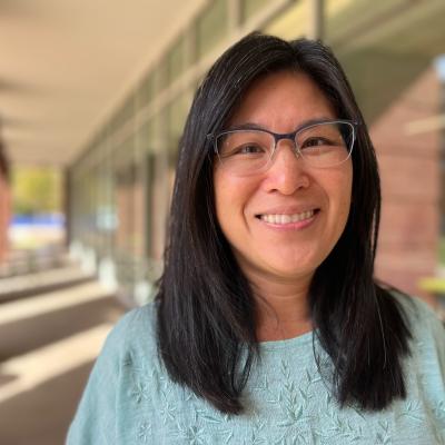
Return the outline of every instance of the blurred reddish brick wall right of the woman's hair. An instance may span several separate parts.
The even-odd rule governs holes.
[[[437,266],[439,238],[439,135],[414,131],[413,122],[438,112],[433,67],[419,76],[372,129],[383,189],[376,275],[434,304],[418,279]]]

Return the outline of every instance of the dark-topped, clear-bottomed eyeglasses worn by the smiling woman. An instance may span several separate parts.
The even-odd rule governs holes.
[[[244,176],[269,168],[281,139],[290,139],[295,155],[301,157],[308,166],[338,166],[350,157],[356,125],[350,120],[329,120],[310,123],[289,134],[244,128],[208,137],[214,140],[215,152],[224,168],[234,175]]]

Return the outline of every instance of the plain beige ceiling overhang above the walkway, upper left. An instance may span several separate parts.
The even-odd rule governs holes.
[[[63,167],[205,0],[0,0],[0,137]]]

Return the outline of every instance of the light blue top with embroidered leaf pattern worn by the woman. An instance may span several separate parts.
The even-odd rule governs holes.
[[[308,333],[261,344],[240,416],[219,413],[169,379],[156,350],[155,305],[135,309],[109,335],[67,443],[445,444],[445,330],[425,304],[404,306],[414,329],[405,400],[379,413],[340,409]]]

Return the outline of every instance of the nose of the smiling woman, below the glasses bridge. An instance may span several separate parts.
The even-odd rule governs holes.
[[[264,182],[267,191],[276,190],[283,195],[291,195],[309,186],[309,176],[294,141],[279,140],[270,162]]]

